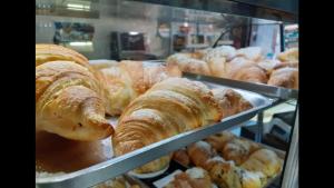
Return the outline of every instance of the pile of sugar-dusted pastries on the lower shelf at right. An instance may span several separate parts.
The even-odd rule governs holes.
[[[282,170],[282,159],[272,150],[222,132],[178,150],[178,162],[194,164],[208,171],[212,180],[222,188],[261,188],[267,178]]]

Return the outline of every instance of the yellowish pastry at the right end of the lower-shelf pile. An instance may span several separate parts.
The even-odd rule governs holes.
[[[282,170],[282,159],[272,150],[259,149],[253,152],[240,167],[249,171],[261,171],[266,177],[273,177]]]

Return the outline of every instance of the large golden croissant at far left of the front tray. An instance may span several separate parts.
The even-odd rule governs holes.
[[[36,129],[68,139],[96,140],[114,131],[105,118],[96,77],[72,61],[36,67]]]

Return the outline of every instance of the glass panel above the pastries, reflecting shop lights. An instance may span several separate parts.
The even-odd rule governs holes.
[[[62,44],[89,59],[165,59],[213,46],[255,46],[257,22],[281,23],[135,1],[36,1],[36,42]]]

